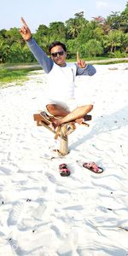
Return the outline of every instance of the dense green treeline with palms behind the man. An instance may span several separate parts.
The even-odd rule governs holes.
[[[128,55],[128,2],[123,12],[112,12],[107,19],[97,16],[89,21],[84,18],[84,12],[79,12],[65,23],[59,21],[51,22],[49,26],[40,25],[32,37],[46,52],[48,45],[55,40],[67,44],[68,58],[74,58],[77,50],[82,58],[125,57]],[[21,38],[19,29],[2,29],[0,63],[32,61],[35,59]]]

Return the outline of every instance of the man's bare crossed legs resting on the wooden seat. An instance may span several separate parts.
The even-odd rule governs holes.
[[[56,104],[48,104],[47,109],[49,113],[54,116],[61,116],[61,119],[55,120],[55,126],[65,124],[67,122],[76,121],[77,123],[82,123],[82,118],[85,114],[89,113],[93,105],[84,105],[78,108],[75,108],[72,112],[68,112],[66,109],[61,108],[61,106]]]

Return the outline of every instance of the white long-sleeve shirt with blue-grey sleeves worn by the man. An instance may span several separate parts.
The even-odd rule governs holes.
[[[92,76],[96,73],[95,67],[86,65],[85,68],[79,67],[76,63],[66,63],[65,67],[61,67],[49,58],[44,50],[41,49],[36,41],[32,38],[27,42],[29,49],[35,56],[44,72],[48,77],[47,98],[49,102],[61,101],[65,102],[74,97],[75,78],[78,75]]]

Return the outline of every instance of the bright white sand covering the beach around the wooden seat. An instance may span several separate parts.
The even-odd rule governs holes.
[[[76,87],[93,119],[70,135],[63,159],[44,159],[59,142],[32,119],[44,73],[0,90],[0,256],[128,255],[128,63],[95,67]],[[104,172],[84,169],[90,160]]]

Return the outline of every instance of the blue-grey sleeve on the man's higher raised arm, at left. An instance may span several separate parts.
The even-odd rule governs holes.
[[[54,62],[45,54],[44,50],[38,46],[33,38],[27,41],[26,44],[38,63],[44,69],[44,72],[49,73],[53,67]]]

